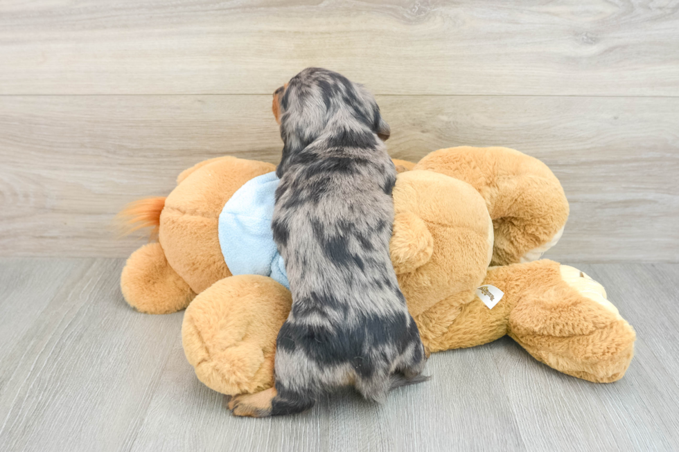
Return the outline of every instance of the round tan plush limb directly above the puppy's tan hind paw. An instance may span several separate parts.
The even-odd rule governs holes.
[[[290,291],[266,276],[230,276],[202,291],[182,324],[198,379],[227,395],[271,388],[276,336],[291,306]]]

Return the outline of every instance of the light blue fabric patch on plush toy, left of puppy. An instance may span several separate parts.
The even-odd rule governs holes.
[[[271,230],[279,181],[275,172],[269,172],[233,193],[219,216],[219,244],[233,275],[270,276],[290,289]]]

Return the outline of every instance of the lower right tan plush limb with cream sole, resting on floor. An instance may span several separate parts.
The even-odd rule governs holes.
[[[597,383],[625,374],[635,332],[585,273],[541,260],[490,269],[484,283],[511,297],[507,334],[539,361]]]

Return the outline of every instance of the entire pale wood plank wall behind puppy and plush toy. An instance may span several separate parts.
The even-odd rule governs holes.
[[[276,162],[271,93],[325,66],[391,154],[504,145],[572,214],[550,257],[679,258],[678,1],[0,2],[0,255],[124,257],[128,201],[223,154]]]

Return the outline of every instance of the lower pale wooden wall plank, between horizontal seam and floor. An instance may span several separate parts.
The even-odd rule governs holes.
[[[378,96],[393,156],[505,145],[561,179],[571,216],[549,257],[679,258],[679,98]],[[112,219],[167,195],[189,166],[276,162],[270,96],[6,96],[0,103],[0,255],[126,257]]]

